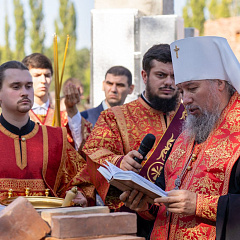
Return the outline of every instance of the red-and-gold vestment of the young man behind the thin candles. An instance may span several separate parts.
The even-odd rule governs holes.
[[[44,120],[41,120],[32,110],[29,111],[29,116],[30,119],[34,122],[37,122],[41,125],[47,125],[47,126],[52,126],[53,123],[53,118],[54,118],[54,109],[53,108],[48,108],[46,116],[43,118]],[[68,126],[68,116],[66,111],[61,111],[60,112],[60,117],[61,117],[61,126],[67,128],[67,138],[68,141],[74,146],[74,141],[72,138],[71,130]],[[81,133],[82,133],[82,143],[79,149],[81,149],[86,142],[88,136],[90,135],[90,132],[92,130],[92,124],[88,122],[86,119],[83,117],[81,118]]]

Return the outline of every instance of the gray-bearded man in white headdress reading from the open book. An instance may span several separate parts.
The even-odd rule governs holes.
[[[216,239],[216,220],[227,220],[221,196],[240,193],[240,64],[221,37],[178,40],[171,52],[188,116],[157,180],[168,196],[155,199],[151,239]],[[147,196],[136,190],[120,199],[139,214],[148,209]],[[222,226],[217,239],[225,239]]]

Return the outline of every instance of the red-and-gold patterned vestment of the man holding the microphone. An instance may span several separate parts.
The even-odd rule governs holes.
[[[180,123],[180,118],[184,118],[183,110],[181,108],[179,111],[178,123]],[[167,120],[166,126],[164,114],[151,108],[142,98],[122,106],[107,109],[101,113],[84,145],[83,152],[87,155],[88,172],[91,176],[91,181],[105,204],[110,208],[119,209],[123,203],[119,200],[119,192],[109,192],[109,184],[97,171],[98,167],[103,165],[106,160],[120,166],[123,157],[131,150],[137,150],[147,133],[152,133],[156,136],[155,145],[147,155],[150,157],[168,130],[175,114],[176,112],[172,112],[165,116]],[[169,129],[172,131],[172,134],[162,144],[161,153],[156,156],[156,159],[161,158],[158,166],[149,164],[148,169],[144,171],[143,175],[147,178],[149,177],[150,180],[154,181],[160,175],[163,161],[165,160],[164,156],[180,132],[181,127],[179,125],[175,126],[175,129]],[[156,159],[153,161],[156,161]],[[143,168],[145,164],[148,164],[148,160],[143,161]],[[151,174],[148,174],[149,172]],[[110,188],[111,190],[113,188]]]

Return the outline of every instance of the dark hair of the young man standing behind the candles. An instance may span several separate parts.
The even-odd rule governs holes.
[[[28,67],[30,70],[31,68],[45,68],[50,69],[51,74],[53,75],[53,67],[51,60],[41,53],[32,53],[26,56],[22,63]]]

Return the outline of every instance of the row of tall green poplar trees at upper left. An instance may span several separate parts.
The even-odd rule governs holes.
[[[5,17],[5,46],[0,46],[0,62],[8,60],[21,61],[25,57],[25,36],[26,28],[24,9],[22,0],[12,0],[14,3],[15,16],[15,50],[11,50],[9,44],[10,25],[8,16]],[[41,52],[48,56],[53,63],[53,45],[44,45],[45,33],[43,28],[43,0],[29,0],[31,24],[29,29],[31,52]],[[7,13],[7,11],[6,11]],[[71,0],[59,0],[59,14],[55,21],[55,32],[58,35],[58,56],[59,56],[59,76],[61,74],[63,56],[67,35],[70,36],[64,78],[76,77],[81,80],[84,86],[84,95],[87,97],[90,91],[90,51],[87,48],[77,49],[77,16],[73,2]],[[53,81],[54,83],[54,81]],[[51,86],[53,89],[54,85]]]

